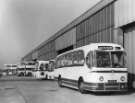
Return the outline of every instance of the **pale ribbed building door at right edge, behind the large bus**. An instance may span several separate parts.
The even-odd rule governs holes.
[[[135,27],[124,32],[124,47],[127,53],[127,67],[129,72],[129,88],[135,88]]]

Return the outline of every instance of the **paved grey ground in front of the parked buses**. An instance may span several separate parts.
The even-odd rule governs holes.
[[[0,81],[0,103],[135,103],[135,92],[81,94],[55,81]]]

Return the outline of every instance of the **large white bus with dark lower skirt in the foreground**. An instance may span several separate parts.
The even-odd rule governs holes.
[[[80,92],[127,91],[126,53],[113,43],[92,43],[56,58],[59,86]]]

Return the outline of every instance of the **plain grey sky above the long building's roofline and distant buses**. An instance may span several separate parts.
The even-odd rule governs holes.
[[[0,68],[25,54],[100,0],[0,0]]]

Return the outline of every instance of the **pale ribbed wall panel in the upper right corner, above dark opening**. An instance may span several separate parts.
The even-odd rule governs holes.
[[[121,27],[135,21],[135,0],[117,0],[115,2],[115,27]]]

